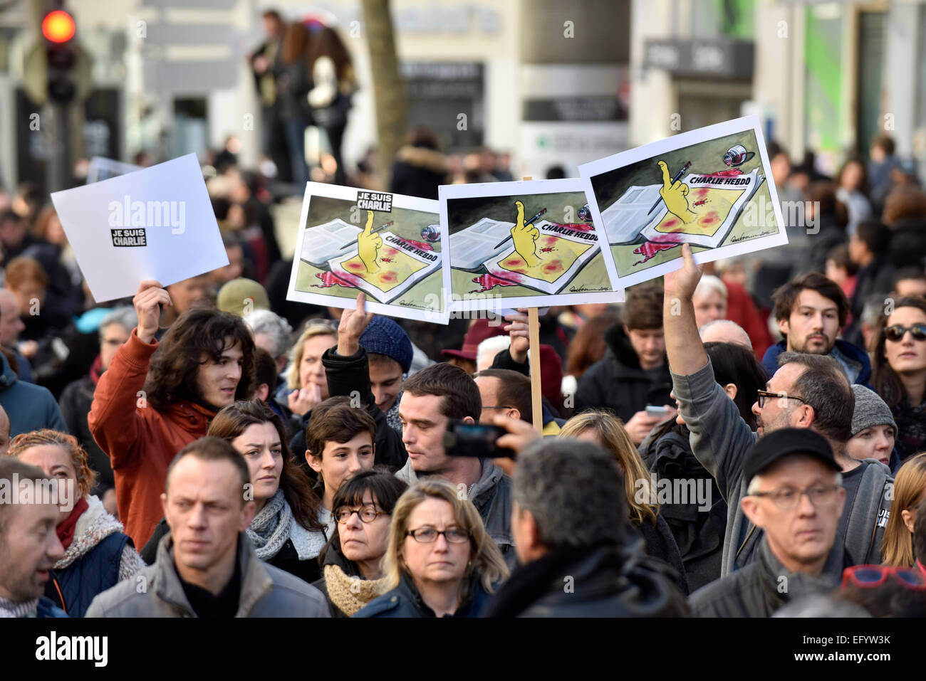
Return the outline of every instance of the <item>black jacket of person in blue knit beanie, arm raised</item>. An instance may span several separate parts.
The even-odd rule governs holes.
[[[369,389],[367,351],[360,348],[356,354],[342,357],[336,352],[336,348],[331,348],[321,355],[321,363],[325,366],[325,375],[328,378],[328,394],[332,397],[358,395],[367,414],[376,421],[376,438],[373,440],[376,451],[374,463],[389,466],[393,471],[399,470],[408,460],[408,454],[402,437],[389,426],[386,415],[376,406],[373,391]],[[303,427],[290,441],[290,452],[300,464],[304,464],[306,460],[306,425],[311,414],[307,412],[303,416]],[[315,478],[314,474],[312,477]]]

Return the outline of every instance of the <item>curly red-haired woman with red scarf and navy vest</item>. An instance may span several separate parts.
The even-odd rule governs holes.
[[[56,526],[65,553],[50,571],[44,595],[70,617],[83,617],[94,597],[129,579],[144,562],[122,524],[90,493],[96,473],[74,436],[49,428],[22,433],[6,455],[41,468],[67,490]]]

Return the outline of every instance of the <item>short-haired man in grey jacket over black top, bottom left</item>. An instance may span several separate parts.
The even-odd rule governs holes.
[[[321,592],[257,558],[244,458],[200,438],[171,462],[161,502],[170,534],[157,558],[91,603],[87,617],[330,617]]]

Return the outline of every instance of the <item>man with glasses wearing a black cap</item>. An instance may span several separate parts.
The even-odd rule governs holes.
[[[847,556],[835,542],[845,505],[830,443],[807,428],[782,428],[746,455],[743,513],[765,530],[756,559],[694,592],[700,617],[769,617],[788,601],[839,586]]]

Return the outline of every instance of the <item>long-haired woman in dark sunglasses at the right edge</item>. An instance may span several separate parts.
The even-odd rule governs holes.
[[[926,300],[906,297],[875,328],[871,386],[891,408],[901,462],[926,449]]]

